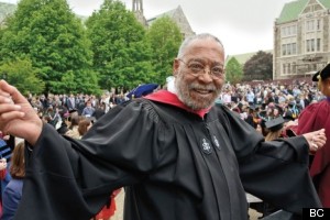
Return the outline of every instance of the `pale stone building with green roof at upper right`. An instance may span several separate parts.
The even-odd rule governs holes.
[[[330,0],[296,0],[274,24],[273,79],[310,77],[330,63]]]

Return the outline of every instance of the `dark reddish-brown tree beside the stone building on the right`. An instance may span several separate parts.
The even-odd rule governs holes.
[[[244,80],[268,80],[273,78],[273,55],[258,51],[244,64]]]

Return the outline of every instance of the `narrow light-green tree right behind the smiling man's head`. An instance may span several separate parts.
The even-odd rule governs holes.
[[[169,16],[163,16],[152,23],[147,31],[147,40],[153,54],[154,81],[163,85],[166,77],[172,75],[173,61],[177,56],[183,35]]]

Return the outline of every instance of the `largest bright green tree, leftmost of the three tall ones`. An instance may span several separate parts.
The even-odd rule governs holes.
[[[0,45],[2,62],[31,59],[45,81],[45,92],[67,92],[65,79],[70,74],[76,85],[70,91],[99,90],[97,75],[90,70],[90,42],[66,0],[21,0],[8,20]]]

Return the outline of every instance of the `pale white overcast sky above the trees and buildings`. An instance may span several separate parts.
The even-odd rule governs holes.
[[[0,0],[16,3],[20,0]],[[132,10],[133,0],[121,0]],[[227,55],[273,50],[273,28],[285,3],[295,0],[143,0],[146,19],[182,7],[196,33],[211,33]],[[72,10],[90,15],[103,0],[67,0]]]

